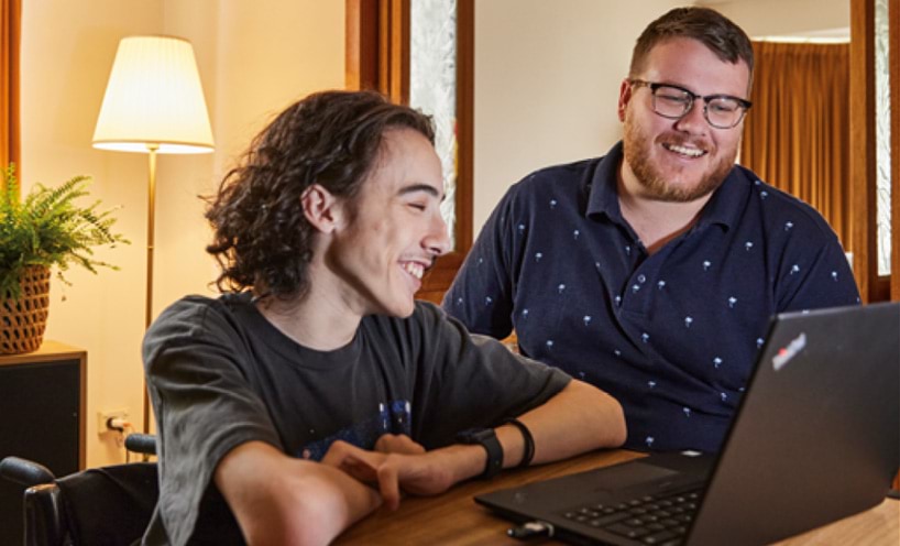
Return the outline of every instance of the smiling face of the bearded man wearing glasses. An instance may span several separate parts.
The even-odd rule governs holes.
[[[676,37],[661,42],[632,77],[673,84],[696,95],[746,98],[750,81],[743,61],[720,59],[701,42]],[[654,112],[646,86],[623,81],[618,114],[625,123],[622,178],[626,190],[661,201],[687,203],[715,190],[734,166],[743,121],[731,129],[711,127],[703,117],[703,100],[681,119]]]

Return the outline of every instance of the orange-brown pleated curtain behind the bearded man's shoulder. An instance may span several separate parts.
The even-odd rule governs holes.
[[[803,199],[850,248],[849,44],[754,42],[740,163]]]

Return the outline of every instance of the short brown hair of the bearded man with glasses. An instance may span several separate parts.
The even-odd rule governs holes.
[[[722,13],[700,7],[676,8],[647,25],[632,52],[629,76],[638,77],[650,50],[673,37],[696,40],[732,64],[744,61],[753,79],[754,50],[747,33]]]

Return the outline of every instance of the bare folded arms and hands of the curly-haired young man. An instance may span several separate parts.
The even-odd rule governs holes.
[[[577,380],[518,419],[535,440],[534,463],[563,459],[625,441],[622,407],[610,395]],[[496,428],[504,468],[525,452],[522,432]],[[251,441],[231,450],[216,469],[216,484],[250,544],[327,544],[381,505],[399,505],[402,491],[442,493],[482,473],[481,446],[452,445],[424,451],[406,437],[383,437],[369,451],[336,441],[321,463],[285,456]],[[367,487],[376,485],[381,492]]]

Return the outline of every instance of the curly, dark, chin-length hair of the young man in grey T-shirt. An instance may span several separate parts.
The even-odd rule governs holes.
[[[435,142],[431,118],[374,91],[322,91],[294,103],[254,140],[208,199],[220,292],[301,297],[309,290],[315,230],[300,198],[312,184],[353,203],[377,162],[385,131],[408,128]]]

